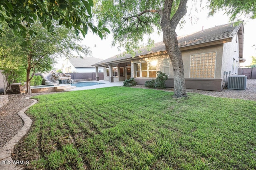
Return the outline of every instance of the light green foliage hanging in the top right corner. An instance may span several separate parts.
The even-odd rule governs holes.
[[[240,15],[249,18],[256,18],[256,1],[255,0],[209,0],[211,9],[209,15],[215,14],[218,10],[224,10],[231,15],[230,20],[235,20]]]

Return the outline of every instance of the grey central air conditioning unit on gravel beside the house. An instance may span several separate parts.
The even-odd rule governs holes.
[[[247,76],[228,76],[228,89],[246,90]]]

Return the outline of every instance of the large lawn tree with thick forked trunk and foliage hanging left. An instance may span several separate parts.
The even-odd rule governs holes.
[[[174,71],[174,97],[187,96],[184,68],[175,29],[186,14],[188,0],[100,0],[97,13],[114,34],[114,42],[128,53],[138,48],[143,36],[154,28],[163,32],[163,42]],[[148,39],[152,43],[151,39]]]

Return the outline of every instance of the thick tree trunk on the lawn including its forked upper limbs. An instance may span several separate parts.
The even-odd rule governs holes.
[[[161,16],[161,28],[163,31],[163,42],[167,54],[169,55],[174,73],[174,97],[179,98],[182,96],[188,96],[186,93],[185,78],[184,78],[184,68],[183,61],[181,57],[181,52],[178,46],[177,35],[175,29],[181,20],[181,18],[186,14],[186,4],[188,0],[180,0],[178,10],[171,18],[172,11],[172,0],[164,1],[164,9],[160,12]]]

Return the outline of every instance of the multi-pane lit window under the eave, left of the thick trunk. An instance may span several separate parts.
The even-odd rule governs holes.
[[[156,61],[137,63],[136,64],[136,77],[156,77]]]

